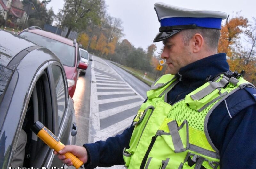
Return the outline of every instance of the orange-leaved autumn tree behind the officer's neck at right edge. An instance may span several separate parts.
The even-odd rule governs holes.
[[[255,22],[255,20],[254,20]],[[227,61],[232,71],[245,70],[244,78],[250,82],[255,81],[255,28],[249,24],[247,18],[229,17],[221,28],[218,52],[227,53]],[[245,42],[243,39],[247,39]],[[244,45],[246,44],[246,45]],[[247,46],[250,46],[248,48]]]

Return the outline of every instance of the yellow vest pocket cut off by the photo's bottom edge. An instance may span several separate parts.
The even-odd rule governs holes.
[[[183,163],[166,158],[160,160],[157,158],[149,157],[145,165],[145,169],[182,169]]]

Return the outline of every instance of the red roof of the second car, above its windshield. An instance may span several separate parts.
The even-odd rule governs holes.
[[[47,38],[54,39],[54,40],[60,41],[62,43],[74,46],[73,40],[70,40],[68,38],[64,38],[63,36],[54,34],[52,32],[47,32],[47,31],[44,31],[44,30],[41,30],[41,29],[28,29],[26,31],[36,33],[38,35],[45,36]]]

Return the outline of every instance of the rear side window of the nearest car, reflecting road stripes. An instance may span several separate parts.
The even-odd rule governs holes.
[[[61,68],[57,65],[52,65],[52,73],[56,88],[57,104],[58,104],[58,124],[60,127],[66,107],[65,84]]]

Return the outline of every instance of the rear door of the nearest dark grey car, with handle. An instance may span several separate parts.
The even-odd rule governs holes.
[[[69,98],[65,72],[57,62],[52,62],[48,67],[50,74],[50,85],[52,89],[52,100],[56,102],[53,108],[54,128],[56,136],[64,145],[75,144],[77,126],[73,100]],[[63,166],[63,163],[53,156],[50,166]],[[49,163],[50,164],[50,163]],[[47,165],[48,166],[48,165]]]

